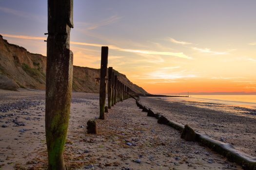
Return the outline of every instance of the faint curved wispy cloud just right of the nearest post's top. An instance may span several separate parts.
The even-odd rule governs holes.
[[[79,25],[79,27],[85,27],[86,30],[95,30],[99,27],[105,26],[105,25],[109,25],[115,22],[118,22],[118,20],[120,20],[122,17],[118,17],[118,16],[111,16],[107,19],[101,20],[98,23],[84,23],[84,22],[78,22],[77,24]]]

